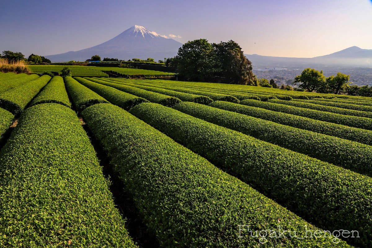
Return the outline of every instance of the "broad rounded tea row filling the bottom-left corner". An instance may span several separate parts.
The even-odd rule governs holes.
[[[135,247],[73,110],[28,108],[0,164],[1,247]]]

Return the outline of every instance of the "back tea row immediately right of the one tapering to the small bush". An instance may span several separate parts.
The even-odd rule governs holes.
[[[92,81],[81,77],[75,77],[75,80],[90,88],[100,96],[105,97],[105,99],[109,100],[111,103],[118,105],[125,110],[128,110],[137,104],[148,102],[146,99],[141,97],[125,93],[109,86],[93,83]]]

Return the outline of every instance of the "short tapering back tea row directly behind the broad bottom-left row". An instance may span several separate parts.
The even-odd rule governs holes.
[[[71,107],[62,77],[52,77],[43,90],[33,99],[31,106],[40,103],[59,103]]]

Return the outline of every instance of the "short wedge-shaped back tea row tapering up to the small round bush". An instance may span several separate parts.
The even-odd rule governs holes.
[[[63,80],[77,111],[80,112],[93,104],[108,103],[102,96],[83,86],[74,78],[64,77]]]

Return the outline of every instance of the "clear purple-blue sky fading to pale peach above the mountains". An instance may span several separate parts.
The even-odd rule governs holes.
[[[134,25],[182,43],[232,39],[246,54],[372,49],[371,0],[0,0],[0,50],[26,57],[88,48]]]

